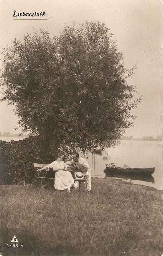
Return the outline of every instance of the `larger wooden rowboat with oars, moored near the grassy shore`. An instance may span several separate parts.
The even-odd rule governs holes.
[[[151,175],[154,173],[155,167],[151,168],[131,168],[124,164],[124,167],[119,167],[114,163],[105,164],[106,170],[110,173],[126,173],[126,174],[134,174],[134,175]]]

